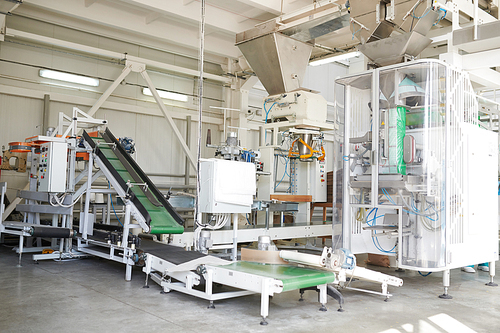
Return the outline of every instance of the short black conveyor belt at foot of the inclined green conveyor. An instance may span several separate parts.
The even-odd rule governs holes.
[[[141,250],[152,254],[174,265],[184,264],[198,258],[203,258],[206,254],[196,251],[186,251],[183,247],[155,242],[141,238]]]

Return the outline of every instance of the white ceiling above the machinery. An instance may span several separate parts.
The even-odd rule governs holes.
[[[283,0],[283,13],[312,2]],[[279,16],[281,5],[281,0],[207,0],[208,60],[239,57],[236,34]],[[14,15],[191,55],[199,47],[200,0],[24,0]]]

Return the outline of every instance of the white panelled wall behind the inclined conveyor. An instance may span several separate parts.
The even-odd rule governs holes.
[[[151,60],[197,69],[195,59],[111,40],[92,34],[74,31],[50,23],[32,21],[14,16],[8,18],[7,26],[52,38],[99,47],[110,51],[128,53]],[[103,59],[71,50],[61,50],[47,45],[7,37],[0,42],[0,146],[12,141],[41,134],[43,95],[51,98],[49,126],[55,127],[59,112],[72,114],[72,108],[88,111],[93,103],[110,86],[123,69],[121,59]],[[67,71],[74,74],[100,78],[99,87],[85,87],[62,81],[44,79],[39,76],[41,68]],[[220,66],[206,65],[207,71],[217,74]],[[159,89],[189,95],[188,103],[165,101],[180,132],[186,134],[186,116],[192,116],[191,152],[196,156],[197,142],[197,84],[194,78],[173,73],[148,71],[151,80]],[[116,137],[128,136],[136,141],[137,160],[144,170],[154,173],[184,174],[185,155],[167,121],[161,116],[152,97],[142,94],[146,83],[137,73],[131,73],[119,85],[95,117],[107,119],[110,130]],[[212,112],[209,106],[223,105],[223,87],[219,83],[204,84],[204,114],[202,157],[213,156],[213,150],[204,147],[207,129],[211,129],[212,140],[220,140],[219,125],[222,117]],[[194,174],[191,169],[191,174]],[[27,175],[11,171],[2,172],[2,181],[9,187],[21,186],[19,179],[27,181]],[[158,178],[160,183],[183,184],[183,178]],[[191,180],[194,184],[194,179]],[[10,183],[17,184],[10,186]],[[10,195],[9,195],[10,196]]]

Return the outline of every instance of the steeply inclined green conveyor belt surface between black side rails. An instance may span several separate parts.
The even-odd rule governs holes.
[[[99,146],[99,149],[102,151],[111,165],[115,168],[120,177],[122,177],[125,182],[130,180],[131,183],[135,183],[132,176],[128,173],[122,162],[115,155],[114,150],[111,149],[109,145],[105,144],[106,141],[103,138],[95,137],[93,137],[92,140],[94,140],[96,144],[98,142],[104,143]],[[151,217],[151,234],[182,234],[184,232],[184,227],[174,220],[167,209],[163,206],[157,207],[153,205],[139,186],[132,187],[131,191],[134,192],[137,199],[148,211],[149,216]]]

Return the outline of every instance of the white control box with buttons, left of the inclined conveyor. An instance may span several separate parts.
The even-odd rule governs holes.
[[[66,192],[66,166],[68,145],[65,142],[47,142],[40,147],[38,165],[38,191]]]

